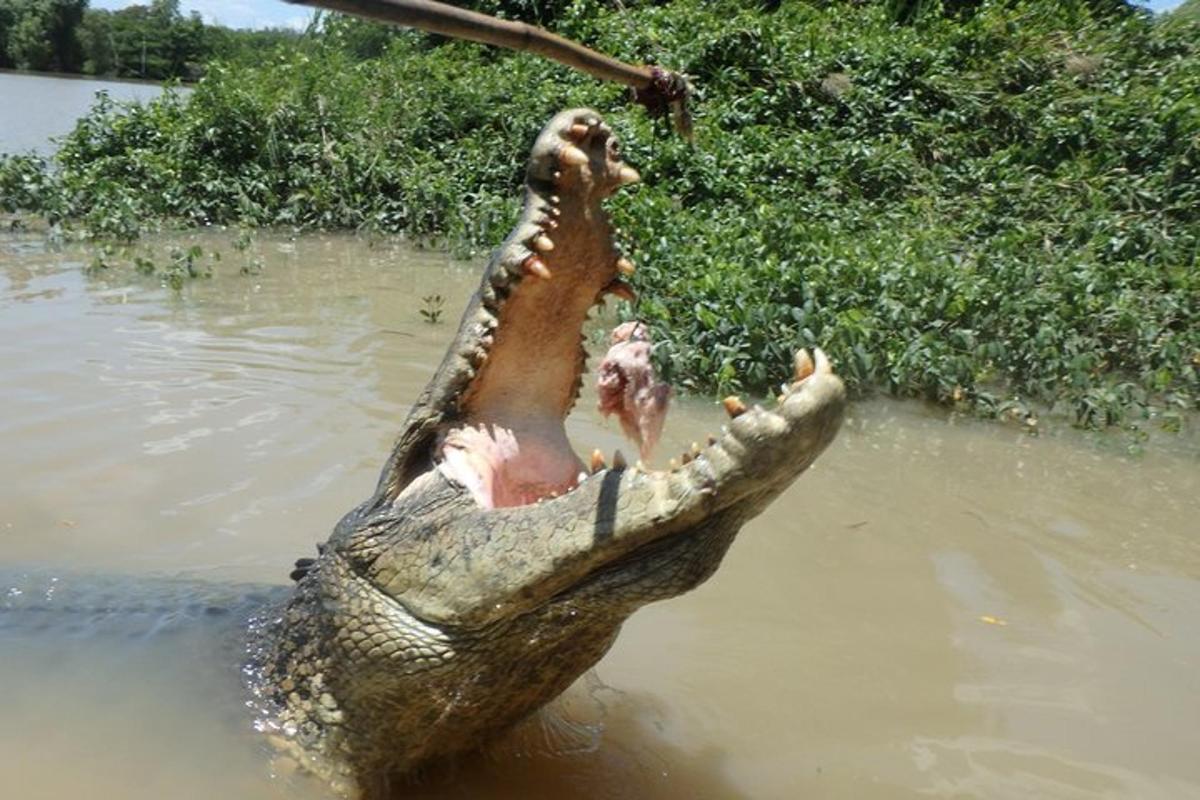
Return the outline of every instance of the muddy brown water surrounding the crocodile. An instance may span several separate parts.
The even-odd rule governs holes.
[[[284,582],[370,493],[476,281],[350,237],[259,237],[244,276],[198,241],[224,258],[181,294],[0,241],[0,573],[128,576],[134,604],[150,575]],[[611,451],[590,405],[572,439]],[[683,403],[664,456],[719,423]],[[858,405],[709,583],[403,796],[1200,798],[1200,447],[1126,441]],[[220,625],[2,615],[0,796],[326,796],[272,776]]]

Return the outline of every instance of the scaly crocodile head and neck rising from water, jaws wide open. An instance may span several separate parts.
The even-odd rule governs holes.
[[[682,465],[580,459],[564,420],[581,329],[632,271],[601,201],[637,180],[595,112],[550,122],[521,219],[374,495],[301,565],[269,631],[272,727],[362,787],[474,748],[560,693],[630,613],[712,575],[838,431],[841,381],[800,353],[778,404],[728,404],[722,435]]]

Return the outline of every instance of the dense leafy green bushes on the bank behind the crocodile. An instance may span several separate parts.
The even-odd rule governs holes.
[[[636,313],[702,391],[796,345],[859,391],[1178,425],[1200,396],[1200,19],[1121,2],[480,2],[694,76],[696,140],[558,65],[338,18],[187,97],[101,103],[0,204],[366,228],[494,246],[557,109],[606,112],[646,185],[614,217]],[[772,11],[773,6],[778,6]],[[373,56],[378,58],[364,58]],[[659,124],[661,128],[661,124]]]

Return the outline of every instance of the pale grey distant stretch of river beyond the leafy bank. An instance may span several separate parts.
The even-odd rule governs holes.
[[[52,137],[70,133],[100,91],[115,101],[145,102],[163,88],[138,80],[0,71],[0,152],[49,156],[58,149]]]

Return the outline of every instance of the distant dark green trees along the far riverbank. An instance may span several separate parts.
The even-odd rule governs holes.
[[[192,79],[212,59],[251,60],[294,42],[287,30],[241,31],[185,17],[179,0],[119,11],[88,0],[0,0],[0,67],[118,78]]]

